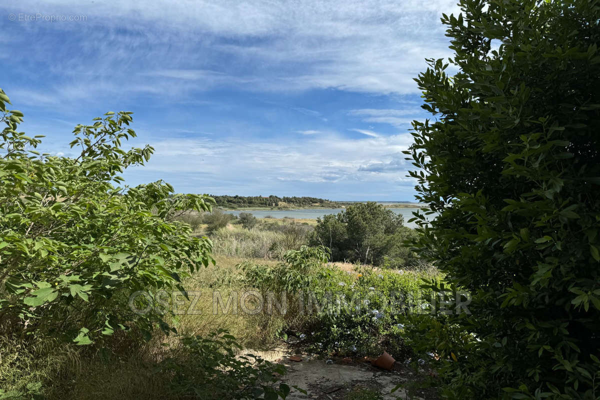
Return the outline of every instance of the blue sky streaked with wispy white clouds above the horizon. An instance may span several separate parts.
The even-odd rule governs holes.
[[[128,146],[156,149],[129,185],[334,200],[413,199],[401,152],[427,114],[412,79],[451,55],[439,17],[457,13],[454,0],[0,8],[0,87],[44,151],[69,155],[74,125],[128,110]]]

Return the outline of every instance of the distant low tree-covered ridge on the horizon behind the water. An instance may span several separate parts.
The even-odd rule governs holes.
[[[279,197],[279,196],[214,196],[217,207],[244,208],[244,207],[341,207],[344,203],[319,199],[317,197]]]

